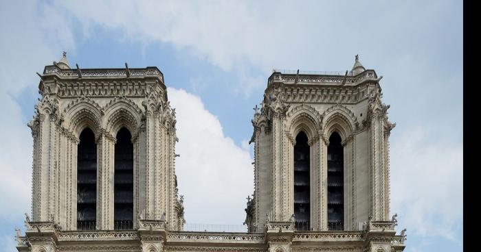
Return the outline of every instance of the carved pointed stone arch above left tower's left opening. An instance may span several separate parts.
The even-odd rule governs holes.
[[[74,136],[78,138],[80,133],[89,127],[96,138],[98,137],[98,133],[102,129],[101,118],[103,115],[98,103],[89,98],[81,97],[69,103],[64,111],[65,127]]]

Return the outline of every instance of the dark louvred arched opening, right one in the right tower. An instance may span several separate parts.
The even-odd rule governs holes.
[[[327,147],[328,230],[344,230],[344,149],[341,136],[333,132]]]

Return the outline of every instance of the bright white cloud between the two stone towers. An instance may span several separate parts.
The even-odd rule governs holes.
[[[253,193],[254,168],[249,149],[224,136],[219,119],[201,99],[168,88],[177,112],[176,174],[186,196],[188,223],[242,225],[245,197]]]

